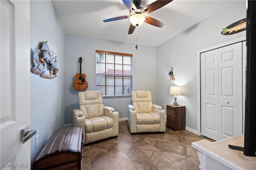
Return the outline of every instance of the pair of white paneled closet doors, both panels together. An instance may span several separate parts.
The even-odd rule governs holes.
[[[242,134],[242,43],[201,53],[201,134]]]

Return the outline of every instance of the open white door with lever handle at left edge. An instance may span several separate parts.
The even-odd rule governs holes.
[[[30,169],[30,2],[0,1],[1,169]]]

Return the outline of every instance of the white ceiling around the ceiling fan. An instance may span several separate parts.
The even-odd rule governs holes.
[[[144,8],[155,0],[142,0]],[[174,0],[148,14],[164,23],[159,28],[143,23],[128,35],[130,20],[103,20],[129,15],[122,0],[52,0],[65,33],[156,47],[192,25],[234,3],[233,0]]]

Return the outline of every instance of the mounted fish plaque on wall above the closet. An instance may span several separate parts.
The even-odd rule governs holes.
[[[222,29],[222,35],[231,35],[246,30],[246,18],[236,21]]]

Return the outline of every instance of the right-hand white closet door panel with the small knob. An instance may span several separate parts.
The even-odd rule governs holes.
[[[242,134],[242,43],[218,49],[219,140]]]

